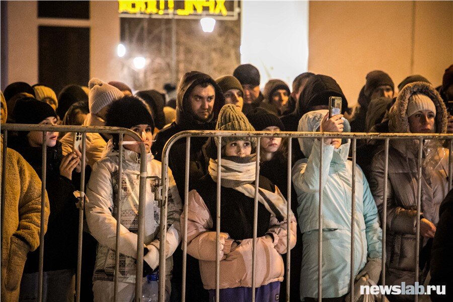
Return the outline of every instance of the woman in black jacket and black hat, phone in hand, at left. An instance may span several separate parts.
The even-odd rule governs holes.
[[[53,108],[34,98],[18,100],[14,108],[16,122],[21,124],[56,123]],[[46,132],[46,191],[50,203],[50,216],[47,233],[44,236],[44,277],[43,296],[47,301],[69,301],[73,299],[72,278],[77,266],[77,245],[79,227],[79,209],[73,192],[77,190],[74,170],[80,172],[81,154],[70,153],[62,156],[61,143],[57,140],[58,132]],[[41,131],[20,131],[11,148],[20,153],[42,176]],[[77,180],[75,180],[77,178]],[[39,250],[29,252],[21,281],[20,300],[36,300],[38,288]]]

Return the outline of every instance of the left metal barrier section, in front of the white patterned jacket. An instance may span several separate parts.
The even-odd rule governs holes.
[[[8,131],[42,131],[43,144],[42,144],[42,192],[41,192],[41,221],[44,216],[44,198],[46,192],[46,132],[81,132],[82,133],[82,171],[81,171],[81,197],[79,198],[79,239],[78,239],[78,257],[77,257],[77,273],[75,281],[75,300],[80,302],[81,292],[81,268],[82,268],[82,235],[83,235],[83,219],[84,219],[84,202],[85,202],[85,162],[86,162],[86,139],[87,133],[109,133],[119,134],[119,164],[118,164],[118,183],[121,184],[121,166],[122,166],[122,152],[123,152],[123,135],[127,134],[135,139],[140,147],[140,182],[139,182],[139,205],[138,205],[138,231],[137,231],[137,265],[136,265],[136,278],[142,279],[143,271],[143,226],[145,214],[145,186],[146,186],[146,149],[144,143],[137,133],[130,129],[120,127],[94,127],[94,126],[61,126],[61,125],[29,125],[29,124],[2,124],[3,132],[3,158],[2,167],[5,167],[8,147]],[[1,233],[3,239],[4,230],[4,217],[5,217],[5,179],[6,169],[2,170],[2,207],[1,207]],[[121,190],[118,190],[117,204],[118,213],[115,217],[117,221],[121,221]],[[114,301],[118,300],[118,276],[119,276],[119,234],[120,223],[117,223],[116,229],[116,249],[115,249],[115,273],[114,273]],[[2,246],[3,248],[3,246]],[[40,228],[40,245],[39,245],[39,273],[38,273],[38,301],[42,301],[42,287],[43,287],[43,257],[44,257],[44,223],[41,223]],[[135,301],[141,299],[141,282],[135,284]]]

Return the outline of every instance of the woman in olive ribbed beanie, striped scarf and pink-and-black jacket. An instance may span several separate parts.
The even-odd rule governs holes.
[[[223,106],[216,130],[254,131],[245,115],[233,104]],[[201,279],[215,299],[216,181],[218,138],[208,140],[209,173],[189,192],[187,253],[200,260]],[[220,193],[220,301],[250,301],[252,297],[252,244],[255,194],[256,139],[225,137],[221,140]],[[256,299],[278,300],[284,266],[280,254],[296,242],[296,222],[291,213],[287,230],[286,200],[267,178],[259,177],[256,242]],[[184,221],[184,215],[181,216]],[[290,246],[286,236],[291,232]]]

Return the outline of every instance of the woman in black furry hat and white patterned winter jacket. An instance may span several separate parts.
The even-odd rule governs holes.
[[[154,121],[148,106],[137,97],[124,97],[112,103],[106,118],[106,126],[129,128],[142,136],[146,148],[146,200],[144,217],[143,279],[159,266],[159,225],[160,208],[155,189],[161,183],[162,165],[150,153],[153,141]],[[123,141],[135,141],[124,135]],[[107,143],[99,162],[93,167],[87,186],[85,213],[90,233],[98,241],[96,265],[93,275],[95,301],[113,300],[117,195],[121,202],[120,259],[118,277],[118,300],[133,301],[135,292],[135,272],[138,230],[138,189],[140,180],[140,151],[138,144],[124,144],[121,189],[118,185],[119,138],[113,135]],[[169,169],[168,216],[167,216],[167,298],[170,297],[170,278],[173,268],[172,255],[180,242],[179,218],[182,203],[175,180]]]

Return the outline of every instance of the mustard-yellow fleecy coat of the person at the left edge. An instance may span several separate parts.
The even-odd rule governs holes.
[[[0,144],[3,150],[3,139]],[[2,153],[3,157],[3,153]],[[7,149],[5,167],[5,221],[2,230],[2,301],[19,298],[19,284],[27,253],[39,246],[41,180],[15,150]],[[44,232],[49,218],[49,199],[44,195]]]

